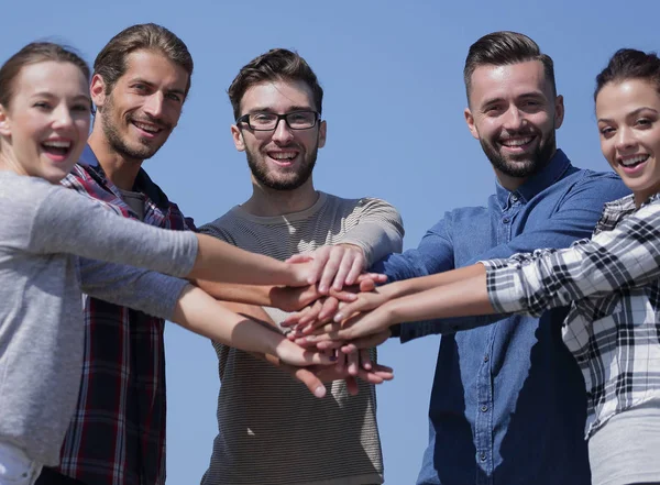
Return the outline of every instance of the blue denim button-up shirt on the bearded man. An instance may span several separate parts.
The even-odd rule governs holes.
[[[591,236],[603,205],[629,194],[618,177],[575,168],[558,151],[516,191],[444,214],[416,250],[375,269],[391,280],[452,269]],[[418,484],[588,485],[584,381],[561,339],[566,309],[509,316],[444,334]],[[487,318],[405,323],[402,342]]]

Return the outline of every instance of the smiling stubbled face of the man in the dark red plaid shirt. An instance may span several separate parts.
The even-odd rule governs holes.
[[[131,53],[127,66],[110,93],[102,77],[94,76],[91,93],[98,107],[95,130],[98,124],[117,154],[142,162],[163,146],[178,123],[189,76],[183,67],[151,51]]]

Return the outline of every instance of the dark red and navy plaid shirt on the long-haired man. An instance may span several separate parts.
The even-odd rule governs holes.
[[[138,218],[106,178],[89,146],[63,185]],[[195,230],[144,170],[144,222]],[[89,485],[165,484],[165,321],[85,297],[85,360],[78,406],[62,447],[59,472]]]

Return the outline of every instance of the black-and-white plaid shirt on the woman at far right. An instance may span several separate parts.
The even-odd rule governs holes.
[[[632,406],[660,400],[660,195],[605,205],[591,240],[482,262],[499,312],[571,305],[563,340],[587,390],[586,437]]]

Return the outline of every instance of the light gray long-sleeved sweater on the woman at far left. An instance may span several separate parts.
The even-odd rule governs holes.
[[[82,362],[81,293],[170,318],[197,239],[91,198],[0,172],[0,438],[56,465]],[[81,256],[81,257],[78,257]]]

